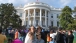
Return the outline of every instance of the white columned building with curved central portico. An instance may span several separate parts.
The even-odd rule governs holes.
[[[58,16],[61,13],[59,8],[54,8],[42,2],[33,2],[26,4],[24,7],[17,7],[16,10],[22,19],[22,25],[27,27],[31,25],[35,27],[39,25],[43,28],[59,27]]]

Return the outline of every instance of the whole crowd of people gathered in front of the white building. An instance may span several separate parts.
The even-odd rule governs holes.
[[[7,37],[8,38],[7,38]],[[2,33],[0,28],[0,43],[73,43],[74,35],[71,30],[49,30],[44,31],[40,26],[31,26],[26,29],[11,29]]]

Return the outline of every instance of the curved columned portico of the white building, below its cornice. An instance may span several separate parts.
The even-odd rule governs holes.
[[[41,26],[41,27],[47,27],[47,17],[48,17],[48,11],[45,9],[28,9],[25,10],[25,25],[27,27],[33,25],[33,26]]]

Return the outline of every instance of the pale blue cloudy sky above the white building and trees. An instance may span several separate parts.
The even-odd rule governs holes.
[[[13,3],[14,6],[24,6],[30,2],[43,2],[55,8],[63,8],[69,6],[72,9],[76,6],[76,0],[0,0],[1,3]]]

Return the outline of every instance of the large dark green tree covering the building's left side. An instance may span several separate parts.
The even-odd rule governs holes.
[[[21,19],[16,14],[13,4],[5,3],[0,5],[0,23],[1,26],[7,28],[12,25],[14,28],[21,26]]]

